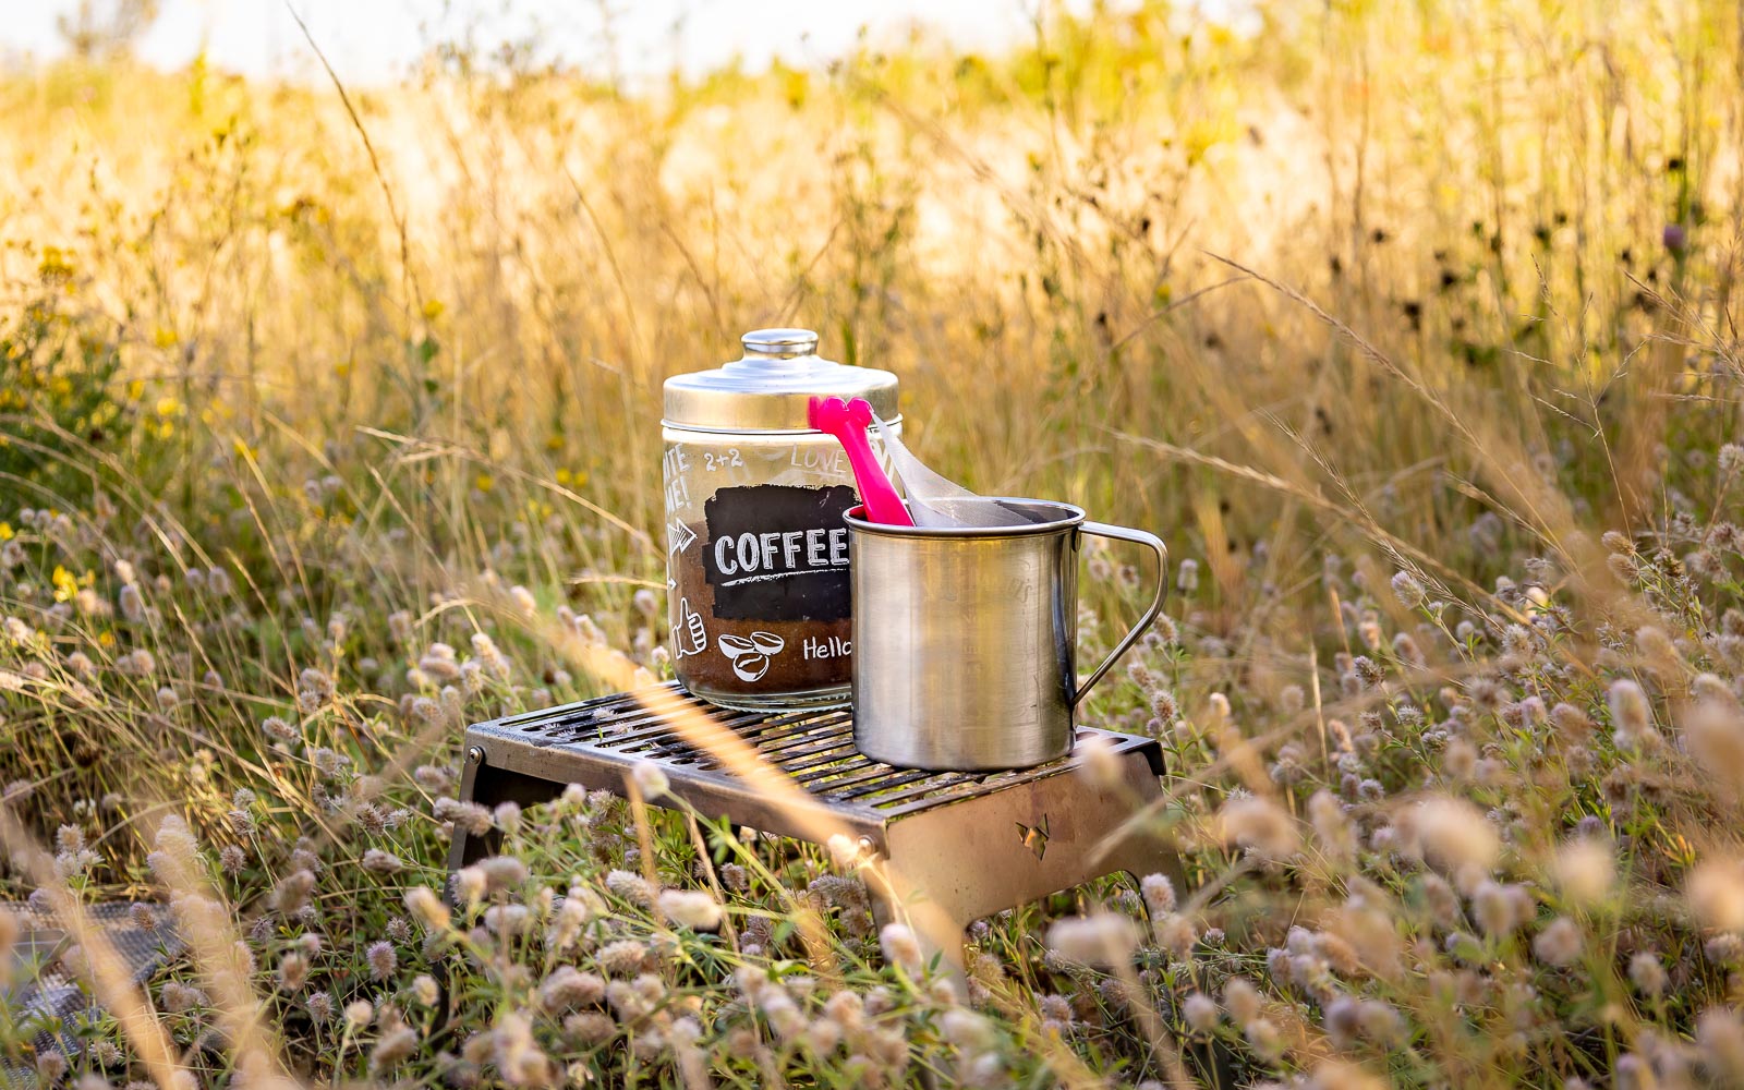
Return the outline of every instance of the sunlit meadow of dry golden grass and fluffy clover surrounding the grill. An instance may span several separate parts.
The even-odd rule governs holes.
[[[3,884],[194,949],[77,949],[106,1013],[0,1015],[9,1071],[1744,1085],[1737,3],[701,66],[598,9],[586,63],[527,24],[358,80],[331,17],[239,73],[59,7],[0,70]],[[776,324],[896,371],[942,473],[1170,542],[1083,719],[1163,741],[1186,886],[989,921],[966,1001],[823,849],[453,802],[467,722],[670,675],[659,385]],[[455,823],[513,855],[450,910]]]

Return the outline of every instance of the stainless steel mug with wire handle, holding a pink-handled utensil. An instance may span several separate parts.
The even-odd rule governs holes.
[[[1073,710],[1163,603],[1168,551],[1071,504],[991,501],[1015,527],[893,527],[851,509],[855,746],[898,767],[991,771],[1071,753]],[[1149,546],[1156,593],[1078,684],[1080,534]]]

